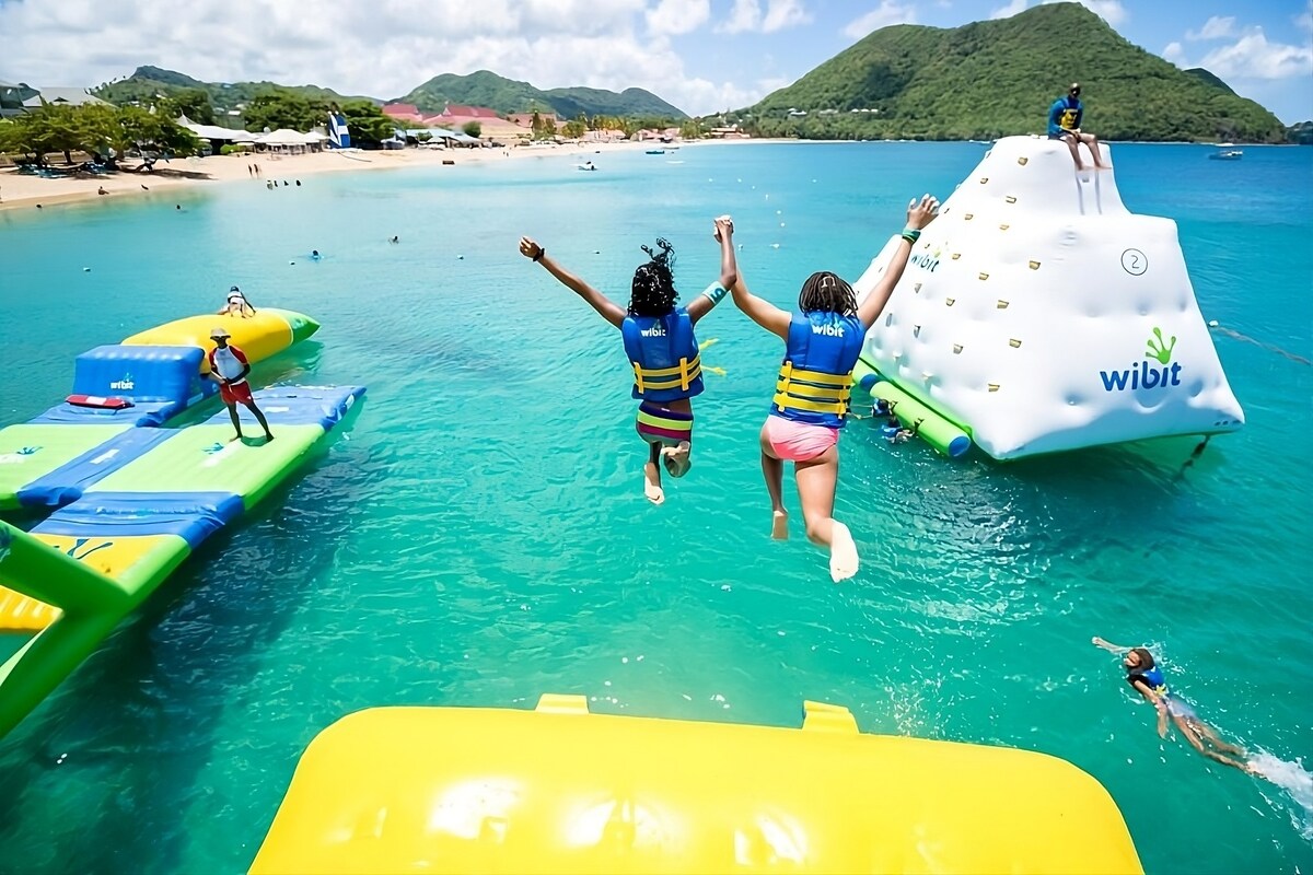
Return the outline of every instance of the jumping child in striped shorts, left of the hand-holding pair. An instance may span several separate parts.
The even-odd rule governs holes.
[[[692,466],[692,399],[702,392],[701,354],[693,327],[729,294],[727,289],[735,282],[738,268],[734,264],[733,235],[734,223],[729,216],[714,220],[712,236],[721,245],[721,277],[688,307],[678,303],[670,243],[658,239],[660,252],[643,247],[649,260],[634,270],[628,311],[548,257],[548,251],[538,243],[529,237],[520,239],[520,254],[541,264],[620,329],[634,376],[632,396],[639,401],[634,428],[647,443],[643,495],[654,505],[666,501],[662,464],[672,478],[684,476]]]

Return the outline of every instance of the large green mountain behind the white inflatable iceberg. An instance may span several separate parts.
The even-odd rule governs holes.
[[[1043,132],[1071,81],[1082,85],[1082,127],[1103,139],[1287,138],[1212,73],[1178,70],[1077,3],[953,29],[882,28],[725,119],[764,136],[991,139]]]

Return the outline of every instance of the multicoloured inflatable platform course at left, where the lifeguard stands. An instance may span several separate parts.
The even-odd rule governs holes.
[[[234,439],[223,407],[179,424],[218,391],[205,376],[217,327],[255,363],[319,324],[272,308],[171,321],[77,356],[64,401],[0,429],[0,512],[49,514],[26,531],[0,521],[0,635],[28,638],[0,666],[0,736],[206,538],[303,464],[365,392],[255,391],[268,443]]]

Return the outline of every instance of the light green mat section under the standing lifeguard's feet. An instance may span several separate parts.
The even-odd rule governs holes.
[[[256,429],[259,434],[259,429]],[[247,508],[269,493],[315,441],[318,425],[274,425],[264,436],[232,439],[231,425],[193,425],[87,489],[93,492],[231,492]]]

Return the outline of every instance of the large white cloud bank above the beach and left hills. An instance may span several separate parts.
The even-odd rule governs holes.
[[[706,0],[189,0],[160,14],[151,0],[118,0],[106,18],[97,0],[0,1],[0,79],[95,85],[155,64],[206,81],[314,83],[391,98],[437,73],[491,70],[538,88],[646,88],[695,114],[755,102],[771,88],[691,77],[671,46],[666,34],[708,8]],[[789,26],[800,14],[797,1],[772,1],[755,29]]]

